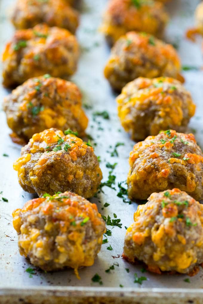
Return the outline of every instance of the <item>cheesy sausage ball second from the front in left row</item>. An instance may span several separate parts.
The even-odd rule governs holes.
[[[69,129],[65,134],[54,128],[44,130],[22,148],[14,169],[25,191],[39,196],[72,191],[85,198],[96,193],[102,172],[93,147]]]

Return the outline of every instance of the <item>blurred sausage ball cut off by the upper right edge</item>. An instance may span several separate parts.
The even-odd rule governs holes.
[[[195,10],[196,27],[190,28],[186,32],[187,38],[195,41],[196,35],[203,36],[203,2],[198,4]]]

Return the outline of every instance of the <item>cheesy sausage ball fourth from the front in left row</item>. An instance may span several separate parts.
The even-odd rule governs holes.
[[[13,87],[45,73],[70,76],[78,58],[79,44],[66,29],[39,24],[18,30],[3,53],[3,85]]]

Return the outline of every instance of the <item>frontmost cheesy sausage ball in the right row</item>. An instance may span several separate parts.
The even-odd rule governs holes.
[[[195,275],[203,263],[203,206],[174,188],[152,193],[127,229],[124,257],[148,270]]]

